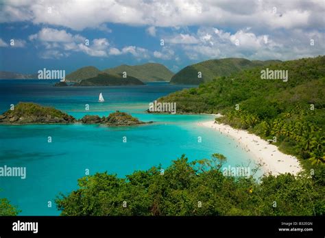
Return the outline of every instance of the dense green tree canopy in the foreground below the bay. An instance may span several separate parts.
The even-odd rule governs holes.
[[[324,170],[257,181],[225,176],[225,159],[189,162],[183,155],[164,171],[85,176],[56,203],[62,215],[324,215]]]

